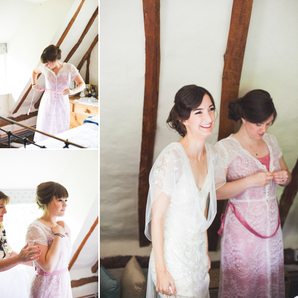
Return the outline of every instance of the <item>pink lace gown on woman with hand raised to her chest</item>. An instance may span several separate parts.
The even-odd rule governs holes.
[[[54,233],[52,229],[37,219],[29,225],[26,242],[37,242],[50,248],[53,239]],[[54,271],[68,267],[71,253],[72,243],[66,235],[63,238],[59,260]],[[33,261],[33,266],[42,270],[35,261]],[[69,271],[53,276],[42,276],[36,273],[30,286],[29,298],[73,298]]]

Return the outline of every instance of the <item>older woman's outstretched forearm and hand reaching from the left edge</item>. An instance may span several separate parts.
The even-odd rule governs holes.
[[[19,264],[26,264],[32,262],[33,260],[38,260],[41,254],[40,245],[29,247],[27,243],[19,254],[16,252],[10,253],[7,258],[0,260],[0,272],[11,269],[12,267]]]

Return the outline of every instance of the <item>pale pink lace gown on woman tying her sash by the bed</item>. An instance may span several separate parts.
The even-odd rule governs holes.
[[[78,74],[74,65],[64,63],[63,68],[56,75],[44,64],[40,66],[41,72],[45,75],[46,89],[53,91],[63,91],[69,88],[71,82]],[[70,102],[68,95],[55,94],[45,91],[38,109],[36,129],[47,132],[51,135],[57,135],[60,132],[70,128]],[[36,132],[34,142],[39,142],[48,137]]]

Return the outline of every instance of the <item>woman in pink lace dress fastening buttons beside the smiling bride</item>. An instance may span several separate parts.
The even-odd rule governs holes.
[[[228,118],[241,120],[235,134],[216,144],[227,183],[217,199],[229,199],[222,218],[219,298],[284,298],[284,251],[276,185],[291,173],[275,136],[268,92],[253,90],[229,103]]]

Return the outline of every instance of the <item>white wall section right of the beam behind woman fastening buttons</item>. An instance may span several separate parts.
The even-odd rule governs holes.
[[[253,89],[270,93],[277,119],[268,130],[292,171],[298,159],[298,2],[254,0],[239,96]],[[278,186],[280,199],[284,188]],[[298,248],[297,197],[283,227],[284,247]]]

